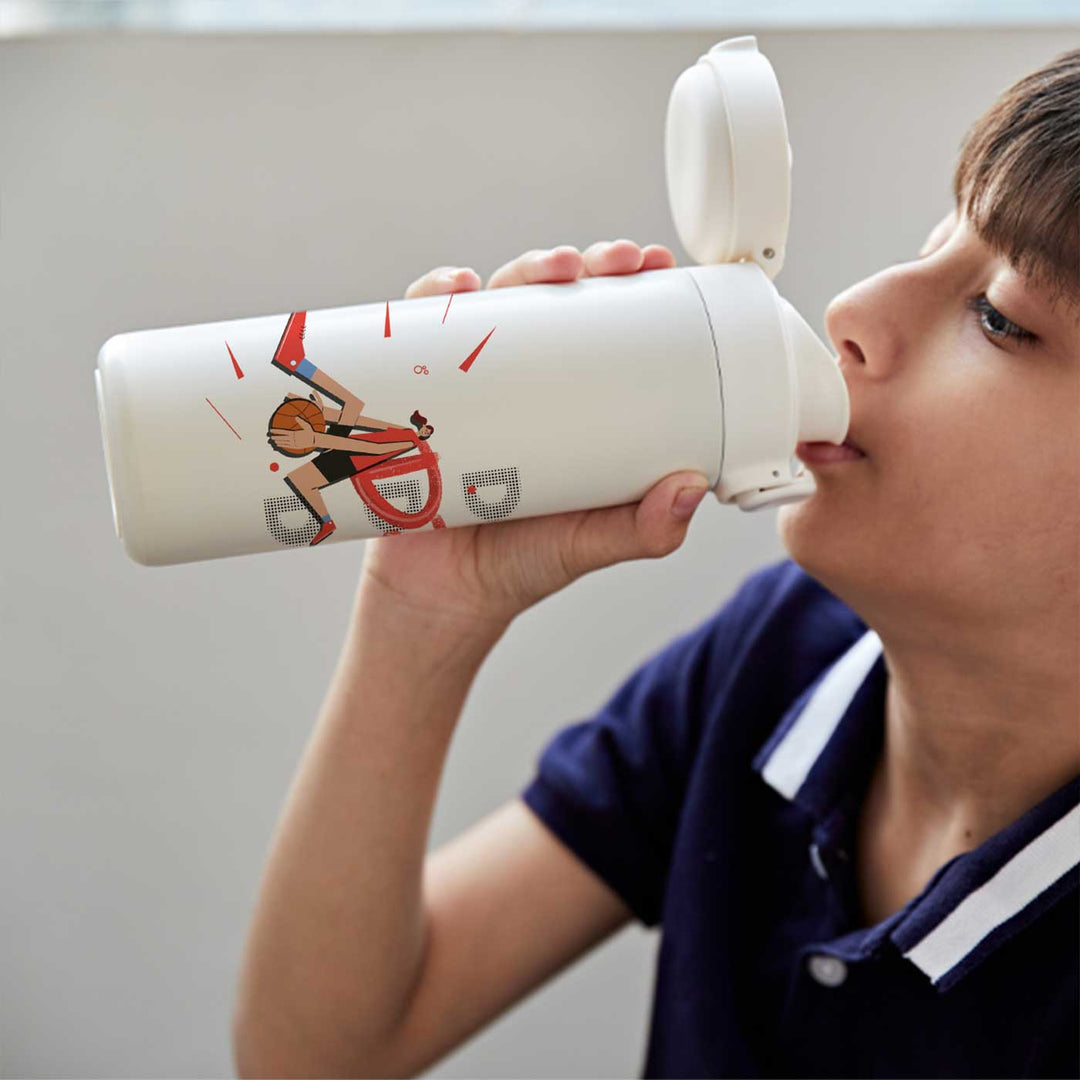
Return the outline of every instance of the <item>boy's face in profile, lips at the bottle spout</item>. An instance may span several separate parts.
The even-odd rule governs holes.
[[[867,456],[808,465],[818,489],[780,509],[781,540],[856,606],[895,599],[954,629],[1040,606],[1067,618],[1080,603],[1076,311],[1052,310],[956,211],[919,255],[828,306]],[[1038,340],[996,338],[1003,320],[964,305],[981,293]]]

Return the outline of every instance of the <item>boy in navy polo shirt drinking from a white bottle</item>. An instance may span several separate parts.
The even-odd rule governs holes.
[[[484,657],[677,548],[703,477],[368,542],[247,943],[241,1076],[416,1075],[630,918],[663,924],[646,1076],[1078,1075],[1080,51],[981,118],[954,193],[918,259],[829,305],[862,456],[798,447],[791,558],[427,858]],[[672,265],[529,252],[488,287]]]

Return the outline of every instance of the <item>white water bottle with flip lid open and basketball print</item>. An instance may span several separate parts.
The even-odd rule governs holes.
[[[95,386],[117,535],[146,566],[636,501],[698,470],[744,510],[840,443],[836,359],[772,285],[791,148],[753,37],[672,90],[700,266],[120,334]]]

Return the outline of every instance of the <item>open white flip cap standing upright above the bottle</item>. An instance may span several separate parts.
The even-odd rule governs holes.
[[[753,35],[713,45],[672,87],[664,130],[667,200],[694,261],[784,264],[792,148],[772,65]]]

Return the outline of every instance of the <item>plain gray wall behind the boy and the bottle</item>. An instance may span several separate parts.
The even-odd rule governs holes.
[[[486,280],[630,237],[679,262],[667,93],[698,33],[85,37],[0,43],[0,1071],[222,1077],[271,829],[346,627],[360,543],[148,569],[109,507],[92,373],[111,334]],[[914,256],[960,137],[1076,29],[760,32],[787,107],[781,292],[823,333]],[[526,612],[481,671],[431,845],[531,775],[653,649],[784,554],[706,502],[684,546]],[[273,617],[299,612],[283,639]],[[436,1077],[630,1076],[659,936],[627,928]]]

